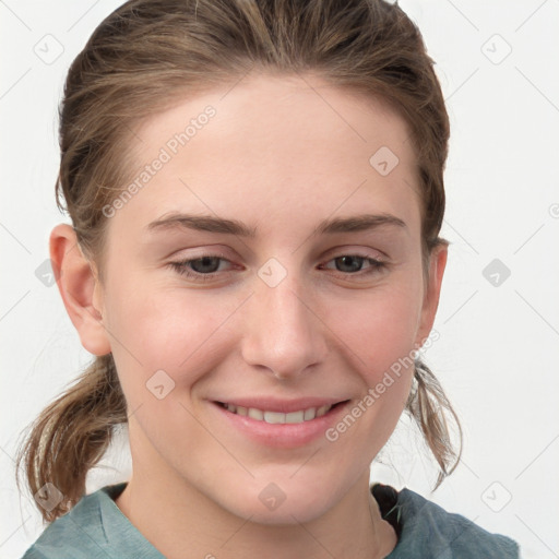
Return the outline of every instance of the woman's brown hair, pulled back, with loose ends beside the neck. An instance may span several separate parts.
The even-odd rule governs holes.
[[[424,273],[444,214],[449,119],[433,62],[414,23],[382,0],[131,0],[95,29],[70,67],[60,107],[57,204],[71,216],[84,254],[103,280],[103,207],[134,176],[130,146],[143,118],[185,95],[235,83],[257,69],[312,72],[326,83],[388,102],[406,120],[417,154]],[[182,96],[182,97],[181,97]],[[66,207],[62,203],[66,201]],[[462,429],[441,385],[415,359],[406,412],[442,479],[456,467]],[[447,414],[457,426],[453,449]],[[20,449],[33,495],[63,495],[51,522],[85,493],[87,472],[107,450],[127,405],[112,355],[97,357],[33,424]]]

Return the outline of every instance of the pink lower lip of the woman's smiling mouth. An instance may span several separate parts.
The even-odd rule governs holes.
[[[245,415],[234,414],[215,402],[211,404],[224,420],[229,421],[229,425],[254,442],[266,447],[289,449],[302,447],[320,437],[324,437],[326,429],[337,423],[344,414],[349,401],[335,405],[321,417],[300,424],[267,424]]]

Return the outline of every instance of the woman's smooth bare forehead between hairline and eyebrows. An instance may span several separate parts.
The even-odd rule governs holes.
[[[144,169],[144,180],[119,213],[134,211],[143,222],[188,210],[235,211],[247,219],[267,212],[285,224],[296,217],[294,209],[299,216],[330,215],[367,204],[417,217],[411,215],[418,213],[416,162],[404,119],[378,99],[317,76],[246,76],[178,98],[134,133],[135,178]]]

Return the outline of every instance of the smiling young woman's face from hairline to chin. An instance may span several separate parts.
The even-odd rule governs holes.
[[[106,207],[95,299],[134,480],[305,522],[368,480],[404,409],[445,252],[429,290],[396,114],[310,75],[228,90],[134,131],[139,180]]]

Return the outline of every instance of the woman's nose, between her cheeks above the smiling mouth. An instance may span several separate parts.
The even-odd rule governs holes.
[[[282,380],[298,377],[324,360],[328,344],[320,306],[300,282],[288,274],[271,287],[257,285],[242,317],[245,361]]]

